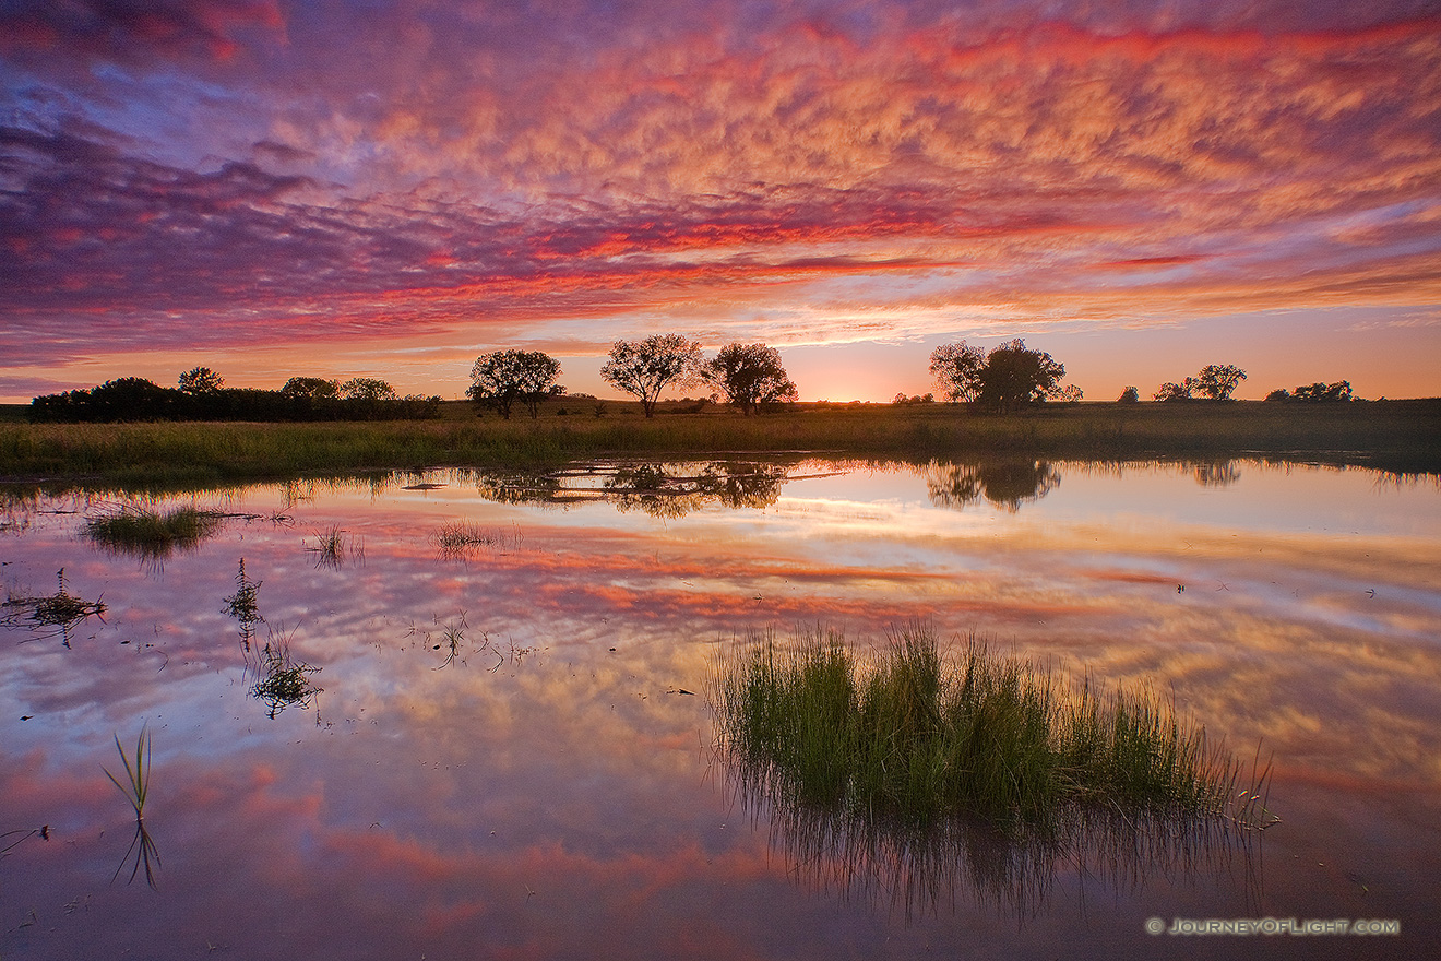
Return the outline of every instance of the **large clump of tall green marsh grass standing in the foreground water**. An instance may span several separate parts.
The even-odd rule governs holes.
[[[1239,762],[1154,692],[1072,684],[974,638],[953,660],[908,627],[870,666],[836,634],[752,638],[712,690],[720,755],[787,804],[901,824],[1075,808],[1274,821],[1265,772],[1238,791]]]

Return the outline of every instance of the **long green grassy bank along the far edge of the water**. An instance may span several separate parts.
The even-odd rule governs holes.
[[[552,402],[537,421],[476,418],[327,424],[0,422],[0,478],[112,487],[212,484],[437,465],[543,468],[594,457],[813,451],[927,460],[986,454],[1066,458],[1268,455],[1441,470],[1441,401],[1342,405],[1094,403],[1019,415],[948,405],[798,405],[741,416],[693,405],[604,416]],[[679,412],[679,411],[690,412]]]

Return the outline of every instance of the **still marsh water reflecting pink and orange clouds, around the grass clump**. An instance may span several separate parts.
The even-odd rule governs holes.
[[[203,536],[88,523],[179,506]],[[1441,949],[1434,475],[794,457],[16,493],[0,562],[4,958]],[[1280,823],[857,834],[713,751],[718,653],[915,622],[1150,684],[1270,764]],[[143,730],[146,850],[107,777]],[[1147,931],[1246,918],[1399,934]]]

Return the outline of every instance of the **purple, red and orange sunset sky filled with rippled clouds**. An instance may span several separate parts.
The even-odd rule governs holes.
[[[1441,395],[1437,0],[12,0],[0,401],[1023,337],[1088,399]]]

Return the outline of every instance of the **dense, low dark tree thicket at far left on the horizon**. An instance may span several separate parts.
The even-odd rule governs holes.
[[[30,401],[37,422],[115,421],[415,421],[440,416],[438,396],[398,398],[393,392],[340,393],[333,382],[294,377],[280,390],[255,388],[161,388],[144,377],[118,377],[88,390],[65,390]],[[297,385],[297,382],[300,382]],[[308,388],[308,389],[307,389]],[[327,389],[329,388],[329,389]],[[378,396],[378,393],[380,396]]]

